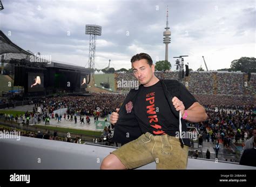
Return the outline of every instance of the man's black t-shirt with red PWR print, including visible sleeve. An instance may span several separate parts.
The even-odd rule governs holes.
[[[185,87],[180,86],[180,93],[179,99],[183,102],[185,109],[197,102]],[[134,113],[142,133],[150,132],[154,135],[169,134],[175,136],[176,132],[179,131],[179,121],[171,111],[160,81],[139,90],[134,103]]]

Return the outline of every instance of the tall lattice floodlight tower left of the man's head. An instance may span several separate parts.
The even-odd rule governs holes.
[[[96,35],[102,35],[102,27],[99,25],[85,25],[85,34],[90,34],[89,68],[95,68]]]

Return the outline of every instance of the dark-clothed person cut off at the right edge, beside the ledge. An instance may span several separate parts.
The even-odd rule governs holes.
[[[240,159],[240,165],[256,167],[256,136],[253,136],[253,148],[245,149]]]

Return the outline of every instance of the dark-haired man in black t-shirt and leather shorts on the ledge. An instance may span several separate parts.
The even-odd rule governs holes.
[[[204,107],[183,84],[159,80],[148,54],[134,55],[131,63],[141,85],[130,90],[110,117],[115,124],[112,141],[126,144],[106,156],[100,168],[133,169],[155,161],[157,169],[185,169],[190,146],[182,136],[185,120],[206,120]]]

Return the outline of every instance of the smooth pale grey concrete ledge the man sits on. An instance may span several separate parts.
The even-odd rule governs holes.
[[[99,169],[116,147],[82,145],[21,136],[0,139],[0,169]],[[39,163],[41,162],[41,163]],[[156,169],[152,162],[138,169]],[[188,158],[187,169],[256,169],[235,163]]]

